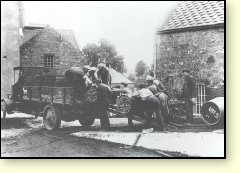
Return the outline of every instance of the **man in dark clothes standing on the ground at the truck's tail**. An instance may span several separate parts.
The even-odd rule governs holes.
[[[103,84],[100,79],[96,80],[97,85],[97,112],[100,116],[101,126],[104,130],[110,128],[110,122],[107,114],[107,110],[110,103],[111,92],[108,85]]]

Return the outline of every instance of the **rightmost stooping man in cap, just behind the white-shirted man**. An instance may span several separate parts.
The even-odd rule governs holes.
[[[160,102],[161,113],[165,123],[169,121],[169,108],[168,108],[168,96],[165,94],[166,88],[163,84],[154,80],[152,76],[147,76],[146,81],[148,83],[148,89],[158,98]],[[162,88],[162,89],[160,89]]]

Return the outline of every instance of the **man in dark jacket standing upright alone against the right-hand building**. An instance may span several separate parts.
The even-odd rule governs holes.
[[[183,97],[185,98],[187,123],[193,123],[193,104],[196,97],[196,84],[193,76],[190,75],[190,70],[185,68],[182,70],[184,76]]]

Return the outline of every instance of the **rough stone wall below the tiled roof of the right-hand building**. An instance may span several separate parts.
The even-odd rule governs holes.
[[[207,85],[209,99],[224,96],[224,29],[158,35],[156,76],[172,94],[182,88],[183,68],[189,68],[197,82]]]

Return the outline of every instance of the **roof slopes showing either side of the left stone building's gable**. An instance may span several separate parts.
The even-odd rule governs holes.
[[[29,28],[29,26],[27,26],[26,28]],[[24,29],[23,36],[20,37],[20,45],[23,45],[34,36],[40,34],[44,29],[45,27],[42,29]],[[67,42],[69,42],[72,46],[79,50],[77,40],[72,30],[67,29],[54,29],[54,30],[57,33],[59,33]]]

